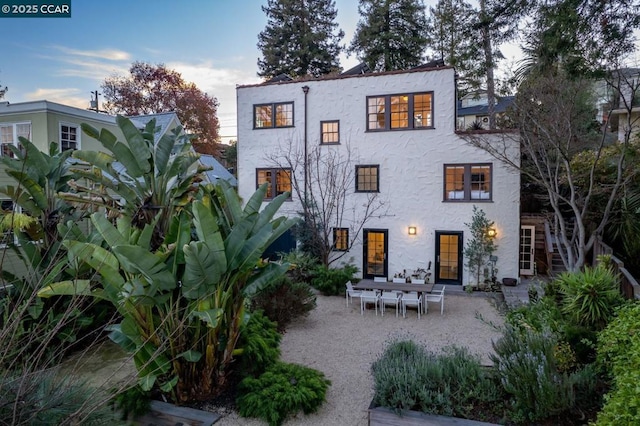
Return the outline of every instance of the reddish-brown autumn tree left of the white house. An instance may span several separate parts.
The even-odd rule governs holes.
[[[134,62],[129,74],[110,77],[102,83],[107,112],[131,116],[174,111],[194,135],[196,151],[217,155],[220,123],[216,98],[163,64]]]

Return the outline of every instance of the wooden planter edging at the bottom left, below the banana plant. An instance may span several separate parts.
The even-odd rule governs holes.
[[[151,411],[138,417],[135,424],[140,426],[211,426],[220,418],[215,413],[179,407],[161,401],[151,401]]]

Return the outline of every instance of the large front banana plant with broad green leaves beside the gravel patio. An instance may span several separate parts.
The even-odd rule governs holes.
[[[156,386],[176,402],[215,396],[237,353],[246,298],[288,269],[261,260],[295,223],[274,218],[288,194],[261,208],[266,189],[261,186],[243,207],[226,182],[201,186],[197,200],[174,215],[157,249],[151,244],[155,223],[140,230],[126,218],[113,225],[96,213],[91,221],[108,249],[86,241],[65,246],[99,279],[52,283],[39,296],[109,300],[123,316],[111,338],[134,353],[144,389]]]

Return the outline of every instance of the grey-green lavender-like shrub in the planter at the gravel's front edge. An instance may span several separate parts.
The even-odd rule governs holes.
[[[476,403],[495,402],[499,389],[464,348],[436,355],[410,340],[392,341],[372,366],[373,403],[393,409],[469,417]]]

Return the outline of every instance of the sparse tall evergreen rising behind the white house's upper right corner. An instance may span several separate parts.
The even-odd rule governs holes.
[[[426,34],[431,56],[455,67],[461,96],[479,89],[484,79],[482,50],[473,30],[476,11],[465,0],[438,0],[429,12]]]

